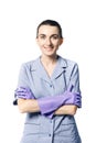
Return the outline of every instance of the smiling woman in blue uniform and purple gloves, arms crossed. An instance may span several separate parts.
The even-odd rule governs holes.
[[[20,143],[82,143],[74,114],[82,107],[78,66],[57,55],[63,43],[58,22],[45,20],[36,30],[41,56],[22,64],[14,92],[26,113]]]

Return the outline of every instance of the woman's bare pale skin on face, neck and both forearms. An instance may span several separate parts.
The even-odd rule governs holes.
[[[41,25],[36,37],[36,43],[42,52],[41,63],[44,66],[49,77],[51,77],[57,61],[56,52],[63,43],[63,38],[60,37],[58,29],[51,25]],[[18,99],[18,107],[22,113],[40,112],[36,99]],[[58,108],[54,114],[74,116],[76,110],[76,106],[67,105]]]

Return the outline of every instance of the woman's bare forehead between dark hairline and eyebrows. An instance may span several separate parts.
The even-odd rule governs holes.
[[[39,29],[39,34],[45,34],[45,35],[58,34],[58,28],[52,25],[41,25]]]

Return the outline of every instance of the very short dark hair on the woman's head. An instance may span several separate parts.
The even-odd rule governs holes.
[[[56,26],[56,28],[58,29],[60,37],[63,38],[62,28],[61,28],[60,23],[58,23],[57,21],[54,21],[54,20],[44,20],[44,21],[42,21],[42,22],[38,25],[38,29],[36,29],[36,37],[38,37],[39,29],[40,29],[41,25],[52,25],[52,26]]]

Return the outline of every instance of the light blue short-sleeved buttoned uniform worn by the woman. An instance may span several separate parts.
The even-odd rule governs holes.
[[[58,56],[51,77],[40,57],[21,66],[18,87],[30,88],[35,98],[63,94],[73,85],[79,90],[78,66],[75,62]],[[55,98],[55,97],[54,97]],[[26,113],[21,143],[82,143],[73,116],[54,116],[49,119],[41,113]]]

